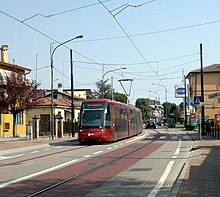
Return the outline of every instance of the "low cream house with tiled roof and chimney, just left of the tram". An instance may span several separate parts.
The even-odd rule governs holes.
[[[39,120],[39,134],[37,136],[51,135],[51,90],[47,90],[46,98],[43,102],[27,111],[27,122],[32,123],[33,118],[37,117]],[[74,90],[74,122],[77,123],[79,119],[80,106],[85,97],[76,95],[85,95],[86,90],[80,90],[79,93]],[[63,90],[62,84],[58,84],[58,89],[54,89],[54,114],[55,138],[62,137],[63,134],[71,133],[71,94],[70,90]],[[60,117],[61,119],[59,120]],[[58,122],[61,122],[61,127],[58,127]],[[75,130],[76,131],[76,130]]]

